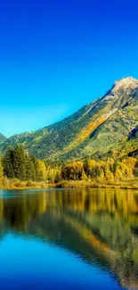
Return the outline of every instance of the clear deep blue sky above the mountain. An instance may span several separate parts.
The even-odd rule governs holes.
[[[138,79],[137,0],[4,0],[0,132],[43,128]]]

